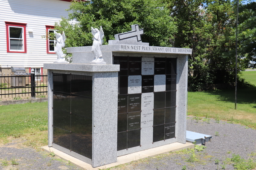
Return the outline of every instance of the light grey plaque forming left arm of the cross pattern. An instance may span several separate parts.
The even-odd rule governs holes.
[[[128,76],[128,94],[141,93],[141,76]]]

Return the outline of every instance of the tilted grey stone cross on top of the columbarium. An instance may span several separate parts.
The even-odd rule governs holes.
[[[132,37],[137,37],[137,41],[141,41],[141,35],[144,34],[143,29],[140,29],[138,24],[132,25],[131,30],[129,32],[121,33],[121,34],[116,34],[115,39],[116,40],[125,40],[128,38]]]

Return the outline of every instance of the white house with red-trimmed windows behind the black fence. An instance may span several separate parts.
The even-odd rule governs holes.
[[[68,17],[70,1],[0,0],[0,74],[10,74],[12,66],[42,74],[44,63],[57,59],[52,41],[42,36]]]

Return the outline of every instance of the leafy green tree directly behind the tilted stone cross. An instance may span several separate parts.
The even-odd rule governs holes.
[[[102,26],[105,38],[114,40],[114,34],[131,31],[131,25],[144,28],[143,42],[154,46],[171,47],[169,42],[177,31],[177,26],[169,10],[157,0],[92,0],[76,2],[70,6],[69,19],[62,18],[55,29],[65,31],[66,47],[92,45],[90,27]],[[75,21],[76,24],[72,24]]]

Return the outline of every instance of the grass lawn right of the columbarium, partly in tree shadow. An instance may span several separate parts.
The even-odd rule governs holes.
[[[252,87],[188,92],[188,115],[212,117],[256,128],[256,71],[244,71],[242,78]]]

